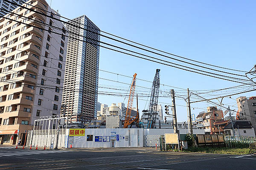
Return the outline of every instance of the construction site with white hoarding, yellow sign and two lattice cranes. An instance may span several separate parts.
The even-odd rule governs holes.
[[[172,104],[165,106],[166,116],[159,120],[157,102],[160,87],[160,69],[154,76],[148,109],[138,109],[135,73],[129,87],[129,97],[125,115],[122,108],[112,104],[106,110],[106,116],[93,119],[87,124],[77,124],[65,117],[65,106],[61,107],[61,115],[42,116],[35,120],[34,128],[27,132],[26,146],[30,147],[155,147],[160,146],[160,136],[177,134],[177,140],[186,148],[186,143],[180,140],[186,133],[204,134],[203,129],[191,125],[177,128],[175,96],[172,92]],[[136,102],[134,102],[136,100]],[[133,108],[136,103],[136,108]],[[169,113],[169,107],[172,113]],[[171,118],[167,121],[167,117]],[[178,144],[178,145],[180,145]]]

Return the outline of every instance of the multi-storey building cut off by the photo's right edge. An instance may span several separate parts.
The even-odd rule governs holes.
[[[249,120],[256,133],[256,96],[254,97],[239,97],[236,99],[238,111],[236,114],[237,120]]]

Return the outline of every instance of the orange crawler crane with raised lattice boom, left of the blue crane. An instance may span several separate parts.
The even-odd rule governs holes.
[[[132,104],[133,104],[134,92],[135,92],[135,86],[136,86],[136,76],[137,74],[135,73],[134,78],[132,79],[132,82],[131,82],[131,90],[130,90],[128,105],[127,105],[127,110],[125,115],[124,128],[131,128],[133,122],[137,122],[137,126],[139,125],[138,95],[137,95],[137,115],[131,117],[131,110],[132,110]],[[129,125],[130,127],[128,127]]]

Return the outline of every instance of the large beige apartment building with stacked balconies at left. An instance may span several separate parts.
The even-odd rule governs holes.
[[[60,18],[45,0],[26,3],[32,6],[22,6]],[[67,49],[61,22],[22,7],[12,12],[0,18],[0,144],[16,144],[18,138],[24,143],[35,119],[60,114]]]

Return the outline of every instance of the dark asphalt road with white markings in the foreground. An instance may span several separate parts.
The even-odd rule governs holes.
[[[244,155],[160,152],[154,148],[22,150],[0,147],[0,170],[254,170]]]

